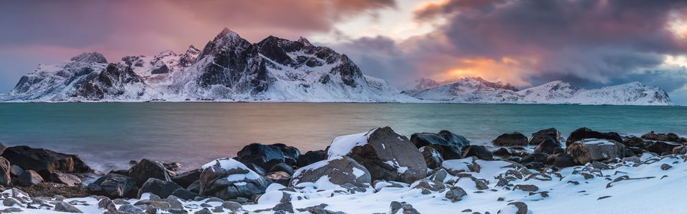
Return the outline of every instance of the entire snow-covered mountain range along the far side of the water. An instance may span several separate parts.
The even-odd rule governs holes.
[[[399,91],[363,75],[345,54],[306,40],[269,36],[249,43],[223,29],[205,47],[185,53],[125,56],[108,62],[82,53],[40,64],[24,75],[4,102],[451,102],[488,104],[671,105],[661,88],[633,82],[582,89],[554,81],[518,90],[482,78],[455,82],[420,79]]]

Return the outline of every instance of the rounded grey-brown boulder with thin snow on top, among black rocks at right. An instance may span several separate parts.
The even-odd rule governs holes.
[[[585,165],[592,160],[623,158],[624,145],[607,139],[585,139],[570,144],[566,150],[575,163]]]

